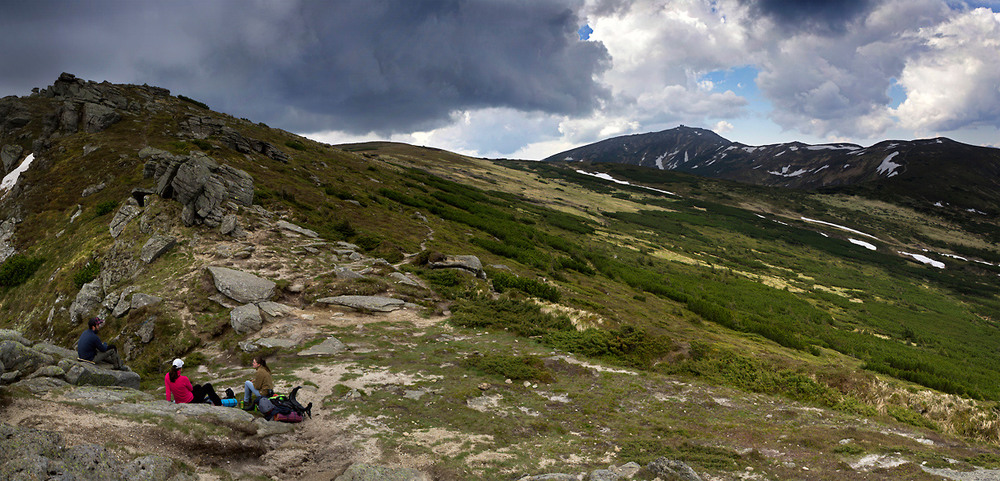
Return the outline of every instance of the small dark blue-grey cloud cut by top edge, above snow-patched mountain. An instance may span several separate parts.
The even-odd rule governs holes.
[[[759,15],[790,30],[843,32],[848,24],[871,11],[877,0],[743,0]]]

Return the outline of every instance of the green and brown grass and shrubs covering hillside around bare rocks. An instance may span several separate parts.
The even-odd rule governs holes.
[[[152,145],[183,153],[205,147],[164,133],[176,131],[177,119],[190,113],[205,112],[184,103],[165,103],[155,115],[129,114],[107,132],[59,139],[56,149],[66,155],[54,159],[47,170],[25,174],[26,182],[53,186],[26,199],[30,215],[18,227],[22,250],[44,257],[46,263],[27,284],[4,293],[0,307],[4,325],[44,333],[41,337],[60,344],[72,343],[79,327],[68,326],[65,312],[58,308],[68,307],[75,295],[73,274],[113,244],[107,231],[113,214],[98,216],[97,205],[120,202],[133,187],[151,186],[152,180],[141,178],[141,162],[135,156],[140,148]],[[555,286],[559,303],[572,308],[574,320],[584,325],[636,326],[649,335],[663,336],[669,352],[649,373],[693,374],[713,383],[837,407],[849,415],[890,412],[887,403],[915,407],[905,396],[880,397],[905,390],[877,391],[871,387],[870,374],[855,371],[861,365],[945,391],[991,401],[1000,398],[995,387],[1000,366],[992,355],[1000,311],[992,294],[997,269],[948,260],[949,268],[941,272],[895,255],[901,248],[918,251],[932,239],[935,242],[928,245],[942,251],[979,254],[990,261],[1000,256],[981,237],[956,233],[945,219],[885,202],[769,191],[607,166],[616,177],[679,194],[669,196],[610,184],[559,166],[490,162],[403,144],[335,148],[225,118],[247,137],[271,142],[292,157],[288,164],[247,157],[207,139],[210,155],[254,176],[257,203],[284,212],[327,239],[356,242],[372,255],[391,260],[420,249],[426,228],[415,213],[421,212],[433,219],[434,240],[426,245],[428,250],[475,254],[485,265],[505,264],[536,280],[533,286]],[[99,148],[84,155],[83,146],[88,144]],[[108,181],[109,187],[79,197],[84,187],[100,181]],[[76,204],[83,207],[83,215],[70,223]],[[158,208],[176,218],[176,212],[170,212],[174,207],[165,203]],[[843,232],[801,222],[800,216],[847,225],[884,242],[875,242],[879,250],[870,252],[848,243]],[[174,229],[186,235],[197,232]],[[123,235],[133,249],[147,237],[135,225]],[[152,292],[192,290],[192,315],[202,327],[146,353],[147,369],[156,369],[153,359],[190,352],[202,342],[233,343],[232,333],[225,332],[225,312],[195,299],[201,294],[198,289],[207,288],[194,274],[197,265],[183,245],[150,269],[140,287]],[[178,278],[186,279],[185,284],[171,283]],[[433,276],[429,280],[446,299],[480,302],[473,293],[483,286],[462,281],[452,286],[448,279]],[[524,302],[519,300],[523,294],[513,292],[511,302]],[[434,308],[433,303],[427,306]],[[48,322],[53,308],[58,315]],[[133,313],[113,322],[109,334],[142,322],[147,314]],[[179,315],[159,314],[160,332],[184,329]],[[554,341],[535,342],[529,350],[544,353]],[[470,349],[463,345],[455,354],[431,352],[458,355]],[[628,362],[614,353],[598,356]],[[441,364],[431,358],[423,368],[426,372]],[[565,366],[549,369],[557,374],[560,369],[572,371]],[[656,379],[614,389],[651,390],[660,382]],[[608,389],[620,382],[616,378]],[[556,386],[567,392],[578,390]],[[613,390],[601,393],[608,399],[616,396]],[[662,409],[650,402],[621,412]],[[601,409],[599,403],[593,406],[597,407],[586,409]],[[552,410],[558,404],[535,409],[543,407]],[[414,413],[414,419],[432,414]],[[988,423],[961,424],[954,415],[940,414],[933,421],[939,429],[997,440],[992,428],[983,428]],[[745,422],[736,416],[726,422],[730,426]],[[653,442],[672,433],[674,442],[668,447],[687,449],[683,440],[696,437],[690,433],[698,430],[697,416],[685,417],[682,427],[641,429],[625,417],[604,424],[607,429],[629,431],[616,437],[634,436],[634,446],[626,447],[635,451],[633,458],[652,454],[642,446],[644,439]],[[526,422],[528,426],[518,429],[554,433],[559,439],[566,433],[558,426],[582,421],[574,416],[537,425]],[[519,433],[515,429],[493,435]],[[707,439],[699,442],[712,444]],[[579,444],[572,447],[579,449]],[[691,457],[697,458],[695,454]],[[706,459],[723,464],[717,458],[732,457],[729,451],[709,454]]]

